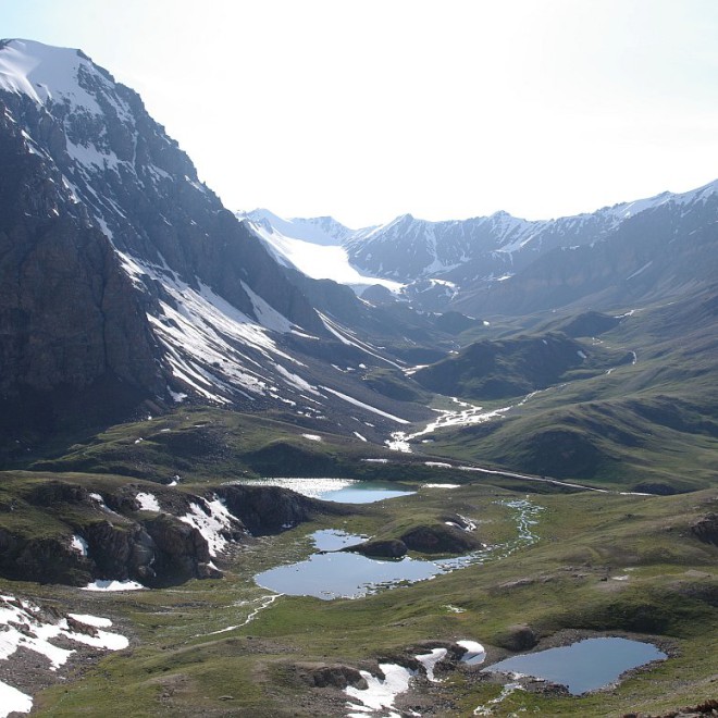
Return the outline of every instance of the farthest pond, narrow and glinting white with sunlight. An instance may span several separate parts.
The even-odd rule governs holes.
[[[282,486],[310,498],[342,504],[373,504],[385,498],[417,493],[405,487],[399,488],[401,484],[358,479],[256,479],[242,483],[250,486]]]

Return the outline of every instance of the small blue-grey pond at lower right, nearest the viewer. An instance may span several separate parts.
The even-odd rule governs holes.
[[[570,646],[513,656],[484,670],[523,673],[566,685],[573,695],[615,683],[631,668],[665,660],[668,656],[651,643],[618,637],[586,639]]]

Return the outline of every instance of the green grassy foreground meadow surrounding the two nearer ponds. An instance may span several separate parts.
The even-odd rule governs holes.
[[[300,679],[301,666],[341,663],[375,670],[376,659],[460,639],[484,643],[491,663],[509,654],[517,623],[530,628],[538,647],[601,632],[656,641],[671,658],[594,695],[517,692],[494,715],[523,708],[620,716],[715,697],[718,548],[690,530],[696,518],[718,509],[715,491],[671,497],[534,495],[530,500],[541,508],[533,545],[516,542],[516,516],[506,505],[511,498],[516,494],[480,483],[423,490],[346,519],[343,528],[373,533],[451,508],[479,520],[483,541],[512,548],[484,566],[362,599],[282,596],[240,626],[268,595],[252,586],[251,575],[306,555],[306,529],[248,548],[222,582],[96,598],[94,610],[116,616],[140,643],[89,668],[71,690],[46,691],[39,715],[339,716],[346,697],[310,688]],[[231,626],[238,628],[211,633]],[[457,668],[445,683],[412,694],[407,705],[433,715],[470,715],[502,690],[500,682],[482,676]]]

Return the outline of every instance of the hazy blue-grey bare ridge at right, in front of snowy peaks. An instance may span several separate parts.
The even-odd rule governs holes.
[[[505,282],[457,299],[463,311],[610,309],[690,296],[716,276],[718,183],[628,218],[602,242],[548,251]]]

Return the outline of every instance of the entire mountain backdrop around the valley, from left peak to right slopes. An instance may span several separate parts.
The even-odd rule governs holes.
[[[636,475],[708,456],[718,182],[536,222],[235,214],[136,92],[25,40],[0,42],[0,161],[10,454],[25,430],[212,405],[554,475],[627,480],[661,421]]]

